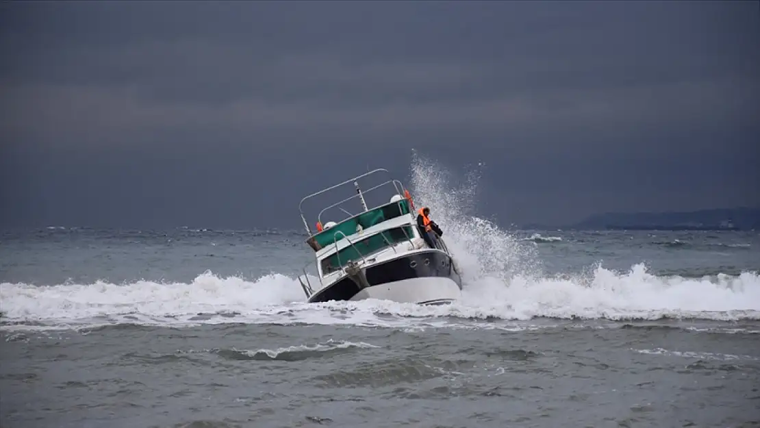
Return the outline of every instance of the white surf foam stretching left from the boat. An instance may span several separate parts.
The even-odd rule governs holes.
[[[6,321],[76,322],[126,316],[182,317],[211,312],[249,312],[303,300],[296,281],[280,274],[245,281],[211,272],[189,284],[138,281],[132,284],[62,284],[37,287],[0,284],[0,311]],[[147,321],[147,320],[146,320]]]

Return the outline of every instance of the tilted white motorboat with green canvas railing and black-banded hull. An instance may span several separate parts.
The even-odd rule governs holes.
[[[359,181],[369,179],[385,181],[363,191]],[[304,202],[347,186],[353,195],[322,205],[312,218],[312,231]],[[369,208],[369,199],[378,204]],[[358,214],[352,214],[349,204]],[[380,299],[437,305],[461,296],[461,275],[444,239],[437,236],[432,247],[426,243],[410,192],[388,170],[372,170],[306,196],[299,211],[309,233],[306,243],[315,256],[298,277],[309,303]],[[323,223],[328,215],[340,217]],[[315,280],[307,271],[312,265]]]

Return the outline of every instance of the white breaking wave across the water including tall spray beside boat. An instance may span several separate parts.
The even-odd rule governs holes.
[[[207,271],[190,283],[0,284],[2,329],[230,322],[455,327],[479,319],[537,317],[760,319],[756,272],[687,278],[657,276],[645,265],[629,271],[597,265],[585,274],[543,274],[533,245],[540,236],[521,241],[471,212],[479,178],[475,170],[464,184],[454,185],[447,170],[413,157],[414,201],[431,208],[463,271],[463,299],[449,306],[380,300],[308,304],[292,277],[271,274],[248,281]]]

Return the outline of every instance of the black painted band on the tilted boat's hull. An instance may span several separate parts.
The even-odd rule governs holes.
[[[451,257],[439,250],[415,252],[394,258],[388,262],[372,265],[365,270],[370,287],[389,282],[413,278],[445,277],[454,281],[461,290],[462,280],[451,265]],[[309,302],[329,302],[331,300],[350,300],[360,288],[349,277],[344,277],[325,290],[321,290],[309,299]],[[433,302],[433,300],[431,300]]]

